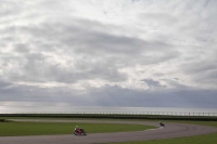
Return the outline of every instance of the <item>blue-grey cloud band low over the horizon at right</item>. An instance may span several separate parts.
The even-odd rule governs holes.
[[[94,95],[94,92],[92,95]],[[95,95],[103,95],[103,99],[97,99],[98,105],[100,106],[107,105],[123,107],[214,108],[216,107],[215,102],[217,100],[216,91],[193,89],[133,91],[118,87],[105,87],[100,94]]]

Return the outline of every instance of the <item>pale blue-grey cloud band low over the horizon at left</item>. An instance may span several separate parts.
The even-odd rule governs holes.
[[[92,101],[92,97],[77,94],[77,92],[78,91],[76,90],[61,87],[38,88],[18,84],[10,89],[0,89],[0,101],[1,103],[31,103],[33,106],[44,106],[44,104],[47,104],[47,106],[56,106],[60,103],[73,106],[95,105],[94,101]]]

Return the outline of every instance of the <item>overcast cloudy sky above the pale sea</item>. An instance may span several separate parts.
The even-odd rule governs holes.
[[[217,108],[216,0],[1,0],[0,108]]]

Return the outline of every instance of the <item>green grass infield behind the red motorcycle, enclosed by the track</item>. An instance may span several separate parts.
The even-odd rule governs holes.
[[[88,133],[141,131],[152,126],[117,123],[67,123],[67,122],[0,122],[0,136],[72,134],[75,126]]]

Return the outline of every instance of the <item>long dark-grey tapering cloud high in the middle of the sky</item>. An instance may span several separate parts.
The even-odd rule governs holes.
[[[40,27],[22,27],[17,30],[24,31],[26,35],[30,35],[34,38],[38,38],[38,40],[46,39],[49,42],[60,42],[63,44],[62,47],[66,47],[68,50],[73,49],[78,53],[94,54],[108,52],[111,54],[139,54],[143,51],[159,51],[162,49],[168,50],[171,48],[170,44],[162,41],[148,42],[137,38],[100,32],[95,30],[95,27],[106,28],[106,26],[91,21],[79,21],[76,18],[75,21],[77,21],[79,25],[74,23],[54,23],[43,24]],[[89,27],[84,27],[84,25],[87,24],[90,24]]]

